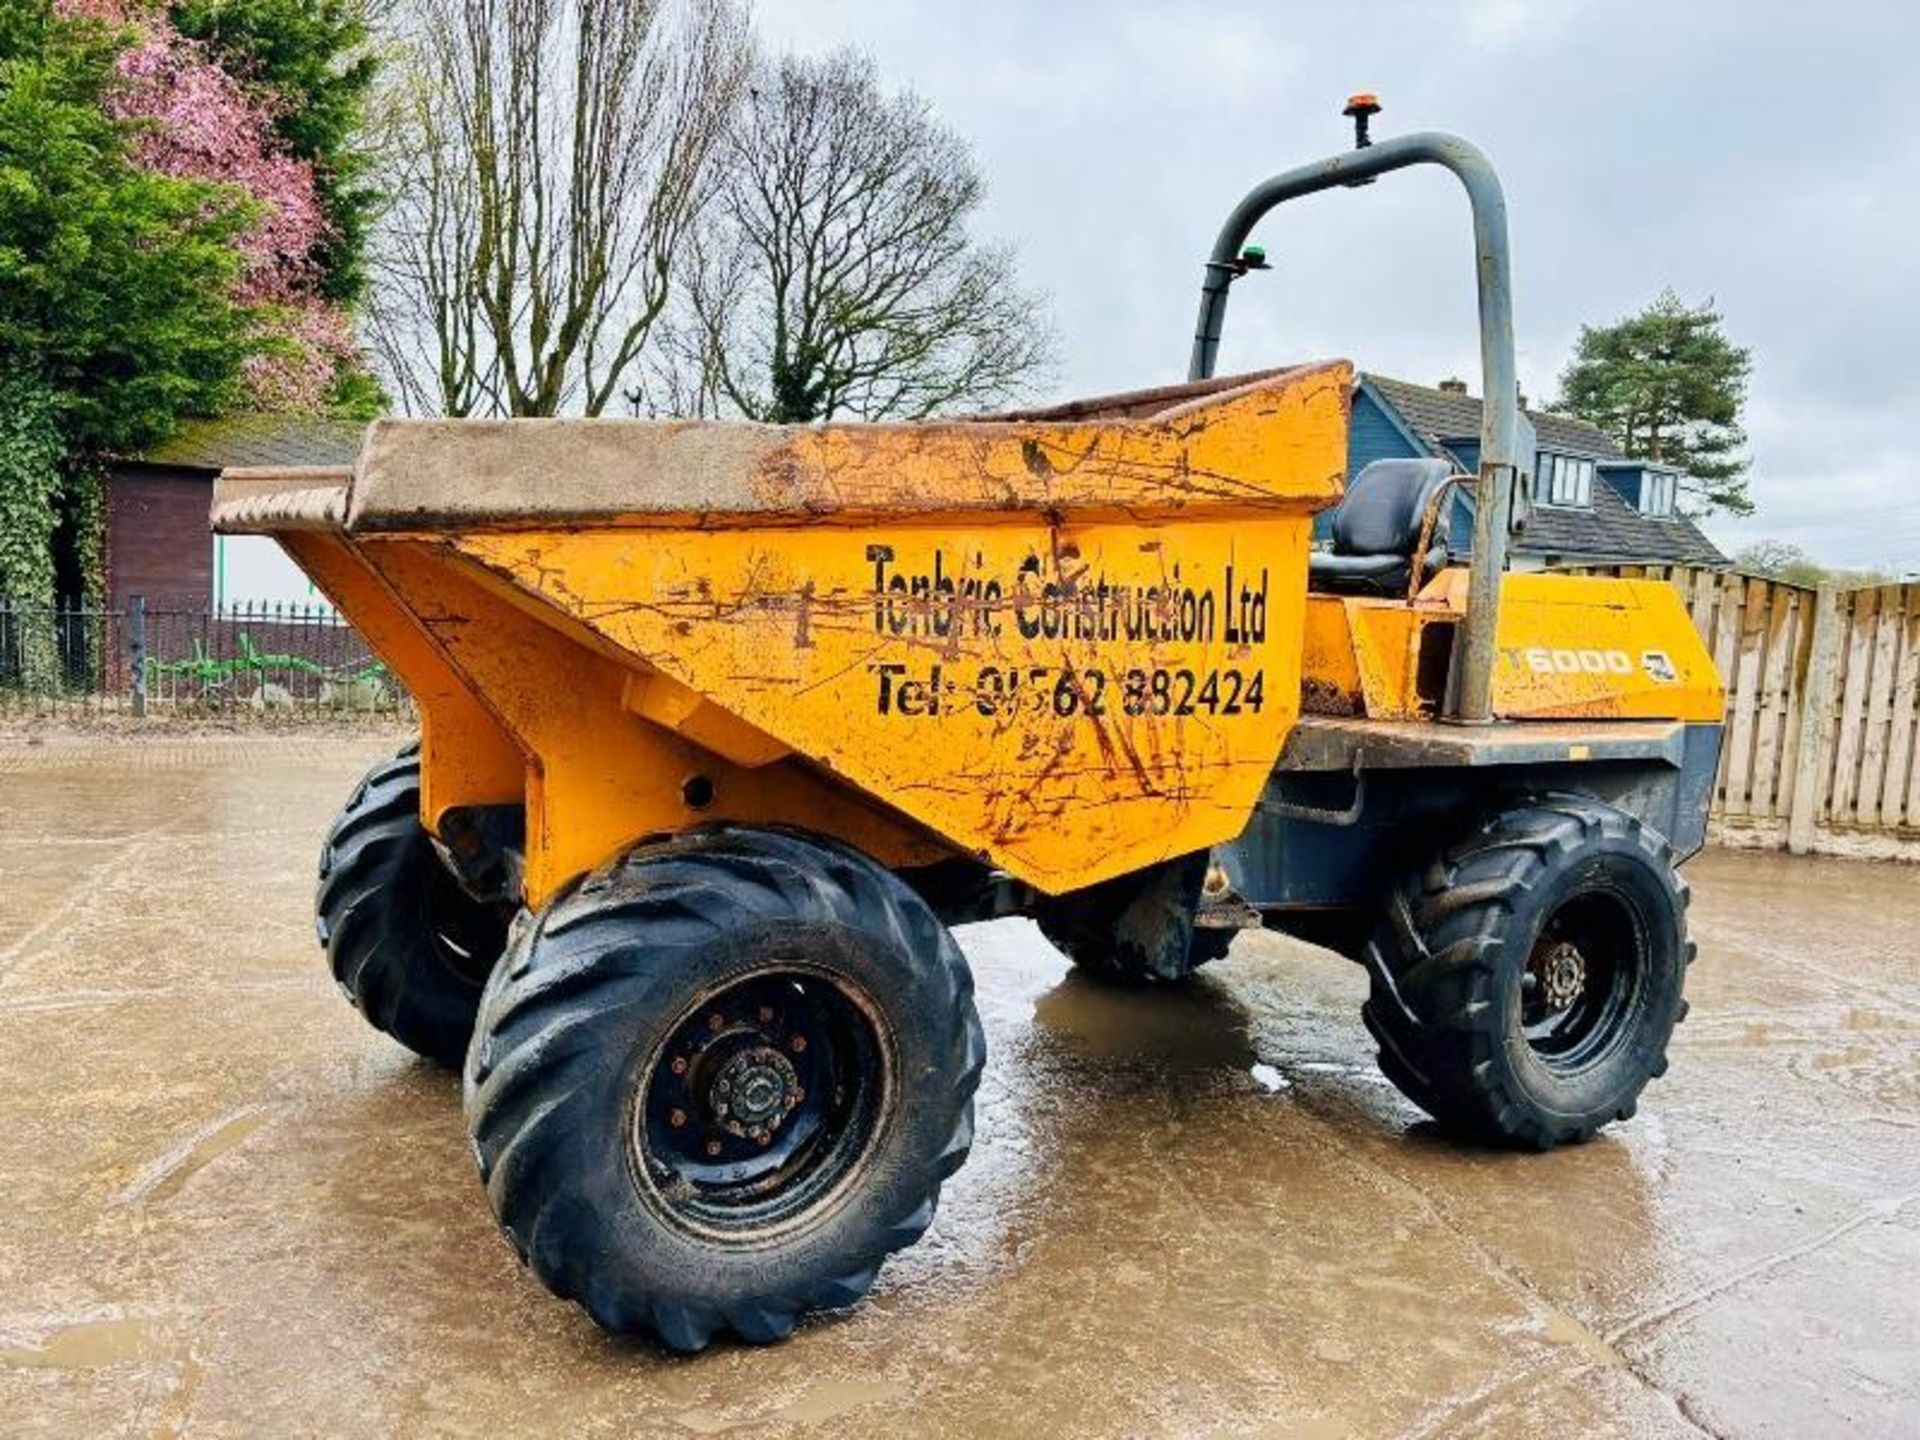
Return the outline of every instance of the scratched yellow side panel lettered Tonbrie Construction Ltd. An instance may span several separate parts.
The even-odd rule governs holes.
[[[1043,889],[1236,835],[1300,705],[1306,511],[453,545]]]

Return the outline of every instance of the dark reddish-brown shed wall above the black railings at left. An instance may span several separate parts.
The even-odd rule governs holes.
[[[108,603],[213,603],[213,503],[209,470],[127,467],[108,476]]]

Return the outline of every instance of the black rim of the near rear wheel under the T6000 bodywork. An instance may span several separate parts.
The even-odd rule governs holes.
[[[1551,1071],[1603,1064],[1632,1035],[1645,996],[1647,927],[1628,897],[1588,889],[1546,918],[1521,975],[1521,1033]]]

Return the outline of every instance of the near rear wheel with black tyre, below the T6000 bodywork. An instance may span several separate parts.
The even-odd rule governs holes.
[[[1382,1073],[1444,1129],[1546,1150],[1628,1119],[1667,1071],[1692,958],[1665,837],[1540,797],[1396,891],[1363,1018]]]

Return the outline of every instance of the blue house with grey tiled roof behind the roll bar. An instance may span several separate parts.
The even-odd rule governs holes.
[[[1524,411],[1521,447],[1534,451],[1534,511],[1513,541],[1513,566],[1703,564],[1730,561],[1678,511],[1680,472],[1634,461],[1586,420]],[[1530,426],[1530,434],[1524,430]],[[1348,474],[1382,459],[1438,457],[1480,467],[1480,401],[1459,380],[1415,386],[1361,374],[1348,434]],[[1452,543],[1465,553],[1473,503],[1453,505]]]

